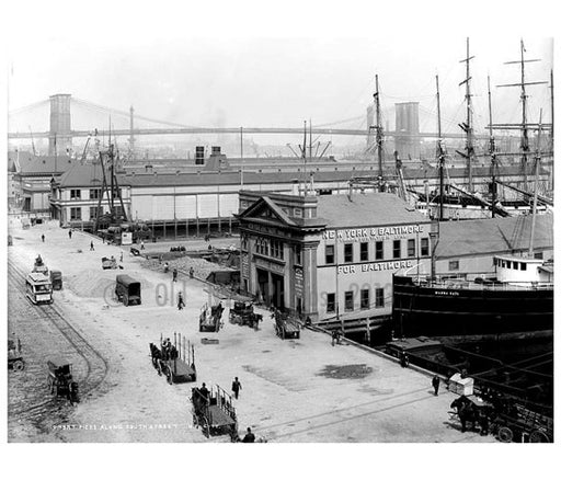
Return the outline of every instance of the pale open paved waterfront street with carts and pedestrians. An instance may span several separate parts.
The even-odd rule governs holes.
[[[456,396],[442,389],[434,397],[427,375],[351,344],[332,346],[331,338],[321,332],[302,330],[300,339],[283,341],[266,311],[260,311],[264,321],[259,331],[229,323],[226,308],[225,328],[201,333],[198,316],[208,301],[204,284],[184,276],[172,283],[171,274],[145,268],[145,260],[129,255],[128,248],[94,240],[95,251],[90,251],[92,236],[77,231],[69,239],[68,230],[57,222],[23,230],[14,220],[10,232],[12,264],[31,270],[41,253],[49,268],[62,272],[64,289],[55,292],[55,307],[110,365],[104,387],[60,421],[61,426],[83,427],[60,427],[46,435],[20,426],[9,430],[10,441],[227,442],[227,437],[207,439],[193,427],[188,398],[191,388],[203,381],[228,391],[233,377],[239,377],[242,390],[233,407],[240,432],[251,426],[268,442],[495,442],[491,436],[462,434],[448,415]],[[124,268],[103,271],[100,259],[118,259],[122,250]],[[142,305],[124,307],[107,296],[116,273],[141,282]],[[181,311],[175,306],[180,290],[186,300]],[[10,331],[18,332],[25,318],[12,315],[9,322]],[[44,327],[37,324],[35,333]],[[161,333],[172,338],[173,332],[195,344],[197,384],[169,386],[152,367],[149,343]],[[201,342],[209,335],[219,343]],[[34,352],[33,338],[22,343],[31,356],[58,353]],[[77,361],[75,367],[81,378],[83,365]],[[43,382],[44,377],[35,381]]]

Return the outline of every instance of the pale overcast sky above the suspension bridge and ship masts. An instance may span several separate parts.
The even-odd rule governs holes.
[[[435,130],[438,73],[443,124],[457,132],[465,116],[465,90],[458,83],[466,76],[459,62],[466,36],[476,56],[471,71],[479,128],[488,123],[488,75],[494,121],[519,121],[519,90],[494,85],[519,81],[518,67],[503,64],[519,59],[522,36],[527,58],[542,59],[528,64],[527,80],[549,81],[552,68],[553,41],[547,28],[510,28],[499,21],[508,20],[500,11],[497,22],[480,21],[489,9],[473,23],[461,21],[460,10],[449,7],[447,16],[437,14],[442,9],[431,10],[431,2],[424,10],[408,8],[409,2],[375,10],[351,1],[341,10],[341,22],[335,11],[323,23],[322,3],[302,10],[298,3],[270,2],[270,11],[251,3],[245,13],[236,9],[240,3],[221,2],[216,10],[165,1],[148,10],[81,4],[89,8],[42,7],[33,19],[19,12],[24,21],[9,35],[9,110],[71,93],[122,111],[134,105],[139,115],[192,126],[299,126],[305,118],[321,125],[359,117],[339,126],[364,128],[378,75],[385,122],[393,127],[393,103],[417,101],[421,129],[427,132]],[[547,85],[529,88],[529,93],[530,119],[537,121],[542,107],[548,121]],[[87,113],[93,123],[106,122],[106,114],[72,106],[72,126],[85,126]],[[12,117],[10,130],[27,129],[32,122],[34,129],[46,129],[47,107],[35,116]]]

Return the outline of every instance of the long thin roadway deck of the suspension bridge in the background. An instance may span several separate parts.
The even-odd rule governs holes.
[[[289,127],[243,127],[243,134],[280,134],[280,135],[301,135],[302,128]],[[108,136],[108,130],[98,129],[98,135]],[[111,135],[115,137],[137,135],[205,135],[205,134],[240,134],[240,127],[228,128],[214,128],[214,127],[185,127],[185,128],[135,128],[112,130]],[[368,136],[368,130],[352,129],[352,128],[314,128],[314,135],[346,135],[346,136]],[[71,130],[71,137],[88,137],[92,135],[92,130]],[[374,134],[371,134],[374,135]],[[62,136],[62,134],[60,134]],[[399,137],[401,139],[423,139],[423,138],[438,138],[435,133],[421,133],[416,135],[403,134],[398,132],[385,132],[386,137]],[[463,138],[462,134],[446,134],[446,138]],[[9,139],[32,139],[32,138],[54,138],[50,132],[18,132],[9,133]],[[480,137],[485,139],[486,137]]]

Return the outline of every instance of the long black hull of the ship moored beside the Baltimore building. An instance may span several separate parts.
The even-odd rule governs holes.
[[[552,336],[553,289],[442,288],[394,276],[392,324],[399,336],[456,341]]]

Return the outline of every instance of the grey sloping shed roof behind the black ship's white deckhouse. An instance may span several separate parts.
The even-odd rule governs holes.
[[[444,221],[436,247],[438,259],[528,250],[531,215],[482,220]],[[536,216],[536,249],[553,248],[553,215]]]

